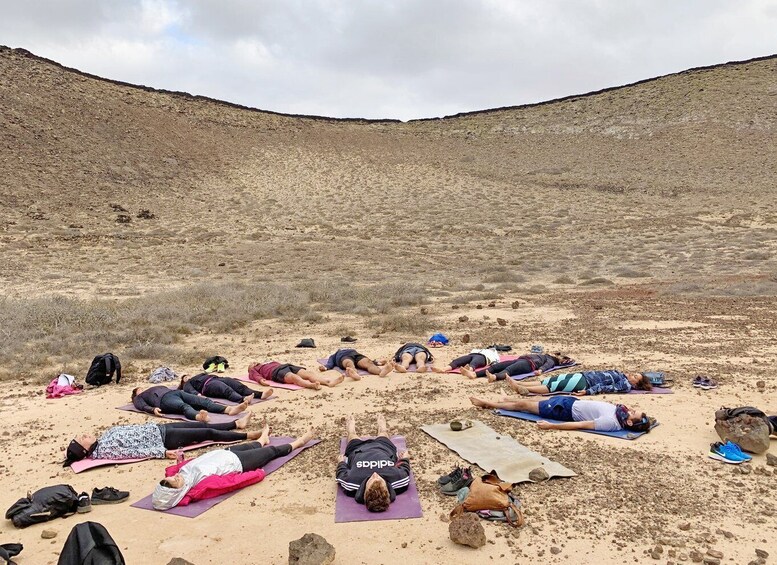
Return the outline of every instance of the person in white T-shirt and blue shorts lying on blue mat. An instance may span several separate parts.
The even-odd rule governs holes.
[[[478,408],[515,410],[538,414],[548,420],[540,420],[541,430],[596,430],[599,432],[648,432],[653,421],[644,412],[632,410],[623,404],[610,404],[596,400],[579,400],[574,396],[554,396],[547,400],[519,398],[491,402],[471,396],[470,402]]]

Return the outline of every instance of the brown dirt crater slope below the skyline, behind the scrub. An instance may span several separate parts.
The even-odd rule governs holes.
[[[128,294],[314,277],[345,258],[383,280],[408,246],[420,280],[774,270],[774,57],[397,123],[248,110],[3,48],[0,108],[14,294],[110,294],[116,271]]]

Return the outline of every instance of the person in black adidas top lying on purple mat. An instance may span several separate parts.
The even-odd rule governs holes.
[[[345,494],[364,504],[370,512],[385,512],[410,484],[409,453],[397,454],[389,439],[386,418],[378,415],[378,436],[361,439],[356,435],[356,421],[346,421],[348,444],[337,465],[337,482]]]

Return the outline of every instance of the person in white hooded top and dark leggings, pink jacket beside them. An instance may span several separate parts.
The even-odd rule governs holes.
[[[175,475],[162,479],[156,486],[151,497],[152,504],[157,510],[173,508],[203,479],[214,475],[223,476],[261,469],[273,459],[288,455],[311,439],[313,439],[312,430],[291,443],[268,445],[270,429],[265,425],[258,441],[227,449],[216,449],[179,467]]]

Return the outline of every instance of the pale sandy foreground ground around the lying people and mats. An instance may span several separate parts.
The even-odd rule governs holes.
[[[561,318],[585,327],[580,317],[586,316],[569,303],[551,304],[547,308],[528,304],[526,309],[532,309],[532,325],[538,333],[550,331]],[[497,305],[494,311],[509,313],[509,306],[500,309]],[[482,316],[483,312],[491,314],[488,308],[473,308],[470,313]],[[772,313],[770,308],[766,317]],[[661,332],[676,337],[680,327],[704,332],[709,331],[709,326],[730,322],[721,321],[712,313],[706,318],[710,321],[702,325],[700,317],[693,312],[682,314],[691,316],[677,316],[658,324],[665,326],[663,330],[657,330],[655,324],[649,329],[640,329],[637,340],[656,339]],[[460,310],[454,310],[443,320],[449,319],[451,325],[456,325],[459,315]],[[749,316],[746,310],[740,310],[740,315],[748,323],[740,320],[737,327],[752,328],[762,319]],[[338,322],[343,320],[332,321]],[[523,323],[515,322],[521,327]],[[288,329],[289,337],[271,338],[271,324],[256,325],[251,329],[254,335],[258,332],[267,339],[262,340],[262,346],[258,342],[249,346],[253,350],[250,356],[246,354],[246,346],[239,343],[225,344],[219,351],[234,367],[244,367],[263,353],[274,353],[274,358],[313,367],[316,357],[340,345],[336,338],[313,336],[318,349],[293,349],[305,330]],[[496,331],[477,330],[484,336]],[[503,330],[500,328],[500,331]],[[480,335],[477,332],[473,335]],[[460,343],[458,329],[449,333],[454,338],[453,345],[435,351],[439,361],[450,360],[470,348]],[[225,341],[229,342],[230,338],[225,337]],[[519,351],[530,345],[522,340],[509,342]],[[555,340],[543,343],[547,347],[561,345]],[[387,336],[378,339],[364,334],[359,334],[356,343],[361,351],[375,357],[390,354],[398,345],[399,339],[391,340]],[[597,355],[584,352],[585,349],[583,344],[566,347],[573,354],[581,352],[577,356],[583,367],[625,366],[624,358],[617,353]],[[672,353],[654,357],[655,361],[645,359],[644,366],[637,367],[668,370],[677,381],[675,394],[603,398],[633,404],[660,420],[658,428],[634,442],[575,432],[543,432],[533,424],[476,410],[467,402],[471,394],[504,394],[504,385],[471,382],[455,375],[394,373],[385,379],[370,376],[361,382],[349,381],[321,391],[279,390],[275,401],[252,407],[260,416],[257,421],[266,415],[279,434],[300,434],[313,426],[324,441],[264,482],[246,488],[196,519],[138,510],[128,504],[95,507],[86,517],[108,528],[129,563],[167,563],[172,557],[183,557],[195,564],[282,563],[287,559],[289,541],[306,532],[316,532],[332,543],[338,563],[391,563],[397,555],[408,563],[474,559],[623,563],[652,560],[645,551],[657,543],[663,547],[662,562],[682,560],[692,549],[704,553],[713,548],[723,552],[726,562],[747,563],[755,559],[755,548],[770,552],[777,548],[774,542],[777,474],[765,467],[764,456],[754,457],[753,472],[747,475],[708,459],[709,443],[716,440],[712,414],[721,405],[755,404],[766,410],[774,409],[777,386],[768,380],[766,391],[757,391],[755,382],[762,378],[767,367],[753,364],[755,360],[750,357],[750,351],[741,351],[741,358],[733,362],[720,352],[702,361],[692,350],[688,346],[686,355]],[[772,359],[774,354],[770,355]],[[692,367],[722,364],[753,364],[756,370],[736,370],[730,376],[710,373],[722,383],[714,391],[700,391],[690,386],[696,373]],[[176,369],[193,371],[196,367]],[[239,372],[236,370],[235,374]],[[165,466],[162,461],[105,467],[79,475],[63,470],[58,464],[64,446],[74,433],[146,420],[143,415],[114,409],[128,399],[135,382],[140,383],[141,377],[129,375],[121,386],[106,386],[79,397],[48,401],[41,396],[41,387],[37,385],[6,388],[2,410],[7,424],[0,441],[7,459],[0,464],[5,487],[0,504],[7,507],[27,490],[58,482],[69,483],[77,491],[105,485],[126,489],[132,493],[130,502],[148,494],[155,480],[162,476]],[[18,412],[12,416],[14,406]],[[408,438],[424,517],[335,524],[333,474],[338,438],[343,433],[343,415],[354,413],[359,429],[370,433],[379,411],[386,414],[392,431]],[[445,422],[460,415],[478,418],[578,473],[572,479],[516,487],[527,525],[513,530],[505,525],[484,523],[488,543],[479,550],[456,546],[448,539],[445,516],[454,504],[434,487],[440,474],[463,461],[419,430],[420,425]],[[79,519],[71,517],[19,531],[10,522],[4,522],[0,535],[3,541],[20,540],[25,544],[25,559],[20,563],[54,563],[69,529]],[[54,529],[58,535],[54,540],[43,540],[40,538],[43,529]],[[553,550],[556,553],[551,553],[551,548],[556,548]],[[229,558],[225,557],[227,554]]]

